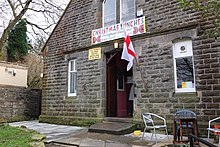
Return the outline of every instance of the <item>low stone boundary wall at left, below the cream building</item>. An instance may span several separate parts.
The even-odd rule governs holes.
[[[41,90],[0,87],[0,122],[38,119],[40,107]]]

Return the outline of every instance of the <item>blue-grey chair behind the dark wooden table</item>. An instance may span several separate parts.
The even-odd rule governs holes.
[[[187,110],[187,109],[179,110],[174,114],[174,119],[176,122],[179,122],[178,118],[195,118],[196,119],[196,113],[194,113],[191,110]],[[187,128],[187,127],[192,130],[194,129],[191,124],[188,124],[188,126],[186,126],[186,124],[182,125],[182,128]],[[176,136],[178,137],[178,141],[179,141],[180,140],[180,126],[179,125],[176,127],[176,130],[177,130]]]

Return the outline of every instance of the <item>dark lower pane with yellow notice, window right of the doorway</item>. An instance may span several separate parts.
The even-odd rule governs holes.
[[[192,56],[176,58],[177,88],[194,88]]]

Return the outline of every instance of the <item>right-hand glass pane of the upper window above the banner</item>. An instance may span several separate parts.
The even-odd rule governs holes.
[[[135,18],[135,0],[121,0],[121,20],[128,21]]]

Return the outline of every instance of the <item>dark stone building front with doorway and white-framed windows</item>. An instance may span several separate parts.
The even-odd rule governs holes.
[[[206,128],[208,120],[220,114],[220,39],[203,33],[212,29],[211,20],[193,10],[183,11],[176,0],[135,0],[135,14],[143,11],[146,32],[131,36],[138,63],[126,71],[127,63],[120,60],[123,38],[92,44],[92,30],[103,28],[103,3],[107,1],[70,1],[48,39],[40,121],[93,123],[125,113],[141,121],[141,113],[153,112],[164,116],[171,129],[174,113],[190,109],[198,116],[199,128]],[[181,43],[186,43],[186,50]],[[181,46],[180,53],[175,46]],[[101,58],[89,60],[89,50],[94,48],[101,48]],[[179,55],[190,58],[189,81],[181,82],[176,75]],[[115,98],[120,93],[120,74],[125,75],[126,110],[118,106],[123,101]],[[135,86],[133,101],[128,100],[129,78]]]

